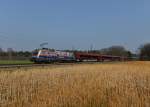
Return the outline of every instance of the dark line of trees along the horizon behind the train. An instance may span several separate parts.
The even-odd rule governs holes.
[[[38,50],[38,49],[35,49]],[[54,51],[54,49],[50,49],[51,51]],[[137,53],[132,53],[130,50],[127,50],[124,48],[124,46],[111,46],[108,48],[103,48],[100,50],[64,50],[68,52],[90,52],[90,53],[98,53],[103,55],[113,55],[113,56],[124,56],[128,57],[131,60],[150,60],[150,43],[146,43],[144,45],[141,45],[138,48]],[[31,58],[32,52],[31,51],[2,51],[0,49],[0,59],[1,57],[25,57],[25,58]]]

